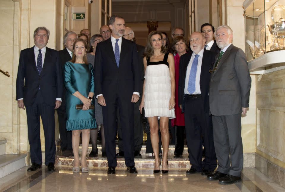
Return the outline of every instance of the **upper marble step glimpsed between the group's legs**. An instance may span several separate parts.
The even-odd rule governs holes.
[[[97,145],[97,148],[98,148],[98,154],[102,154],[102,147],[101,147],[101,145]],[[91,150],[92,150],[92,145],[90,144],[89,145],[89,147],[88,147],[88,154],[91,152]],[[168,148],[168,155],[174,155],[174,150],[175,150],[175,145],[169,145],[169,148]],[[184,145],[184,150],[183,150],[183,155],[188,155],[188,148],[187,148],[187,145]],[[80,144],[80,146],[79,146],[79,153],[81,154],[81,151],[82,151],[82,147],[81,147],[81,144]],[[142,155],[146,155],[146,154],[150,154],[151,155],[151,153],[145,153],[145,151],[146,151],[146,145],[143,145],[142,146],[142,149],[141,149],[141,151],[140,151],[140,153],[142,154]],[[163,148],[162,148],[162,151],[163,151]],[[118,148],[118,145],[116,145],[116,153],[119,153],[119,148]],[[60,146],[58,145],[57,147],[56,147],[56,154],[57,155],[62,155],[62,151],[61,151],[61,148],[60,148]]]

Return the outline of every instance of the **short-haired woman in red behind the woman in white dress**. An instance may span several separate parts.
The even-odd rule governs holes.
[[[175,103],[178,103],[178,79],[179,79],[179,61],[180,56],[188,51],[188,43],[182,36],[177,36],[172,41],[172,49],[175,53]],[[176,140],[174,158],[180,158],[183,154],[184,149],[184,131],[185,131],[185,120],[184,113],[181,113],[181,107],[175,105],[175,119],[171,119],[171,126],[176,126]]]

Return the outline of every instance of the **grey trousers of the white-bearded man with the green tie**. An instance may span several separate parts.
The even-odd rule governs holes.
[[[219,165],[217,171],[239,177],[243,169],[241,113],[212,116],[212,120],[214,145]]]

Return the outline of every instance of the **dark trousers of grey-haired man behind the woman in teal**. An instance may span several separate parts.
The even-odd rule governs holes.
[[[65,150],[72,150],[72,132],[66,130],[66,89],[63,90],[63,97],[62,102],[59,108],[57,108],[57,115],[58,115],[58,125],[59,125],[59,136],[61,139],[60,148],[61,151]]]

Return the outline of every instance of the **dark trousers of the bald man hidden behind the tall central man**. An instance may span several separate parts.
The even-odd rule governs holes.
[[[142,99],[140,97],[137,103],[134,103],[134,150],[135,151],[140,151],[143,146],[143,123],[140,119],[141,114],[139,110],[141,101]],[[119,151],[124,151],[122,129],[121,129],[121,127],[124,126],[124,124],[121,124],[120,118],[118,117],[117,121],[118,121],[118,140],[119,140],[118,147]]]

